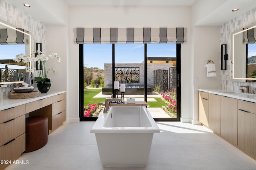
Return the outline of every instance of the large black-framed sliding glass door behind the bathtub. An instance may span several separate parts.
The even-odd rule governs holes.
[[[148,102],[156,121],[180,120],[180,44],[79,47],[80,121],[96,120],[100,103],[113,94],[114,81],[125,84],[125,101],[131,97]]]

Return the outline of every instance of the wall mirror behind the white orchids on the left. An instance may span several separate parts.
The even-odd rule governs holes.
[[[0,20],[0,84],[23,82],[25,63],[17,63],[13,59],[20,53],[30,56],[30,42],[28,31]]]

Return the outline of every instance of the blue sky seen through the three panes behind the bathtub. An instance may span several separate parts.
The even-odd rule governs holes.
[[[148,57],[176,57],[176,44],[147,44]],[[115,44],[115,63],[142,63],[144,44]],[[112,63],[112,44],[84,44],[84,66]]]

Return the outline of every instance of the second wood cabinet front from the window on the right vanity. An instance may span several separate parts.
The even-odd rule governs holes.
[[[221,96],[209,93],[209,128],[220,134]]]

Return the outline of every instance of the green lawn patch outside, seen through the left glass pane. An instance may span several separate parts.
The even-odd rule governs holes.
[[[105,98],[93,98],[100,92],[101,92],[101,88],[99,88],[99,89],[88,88],[88,89],[84,90],[84,106],[86,106],[88,104],[105,102]]]

